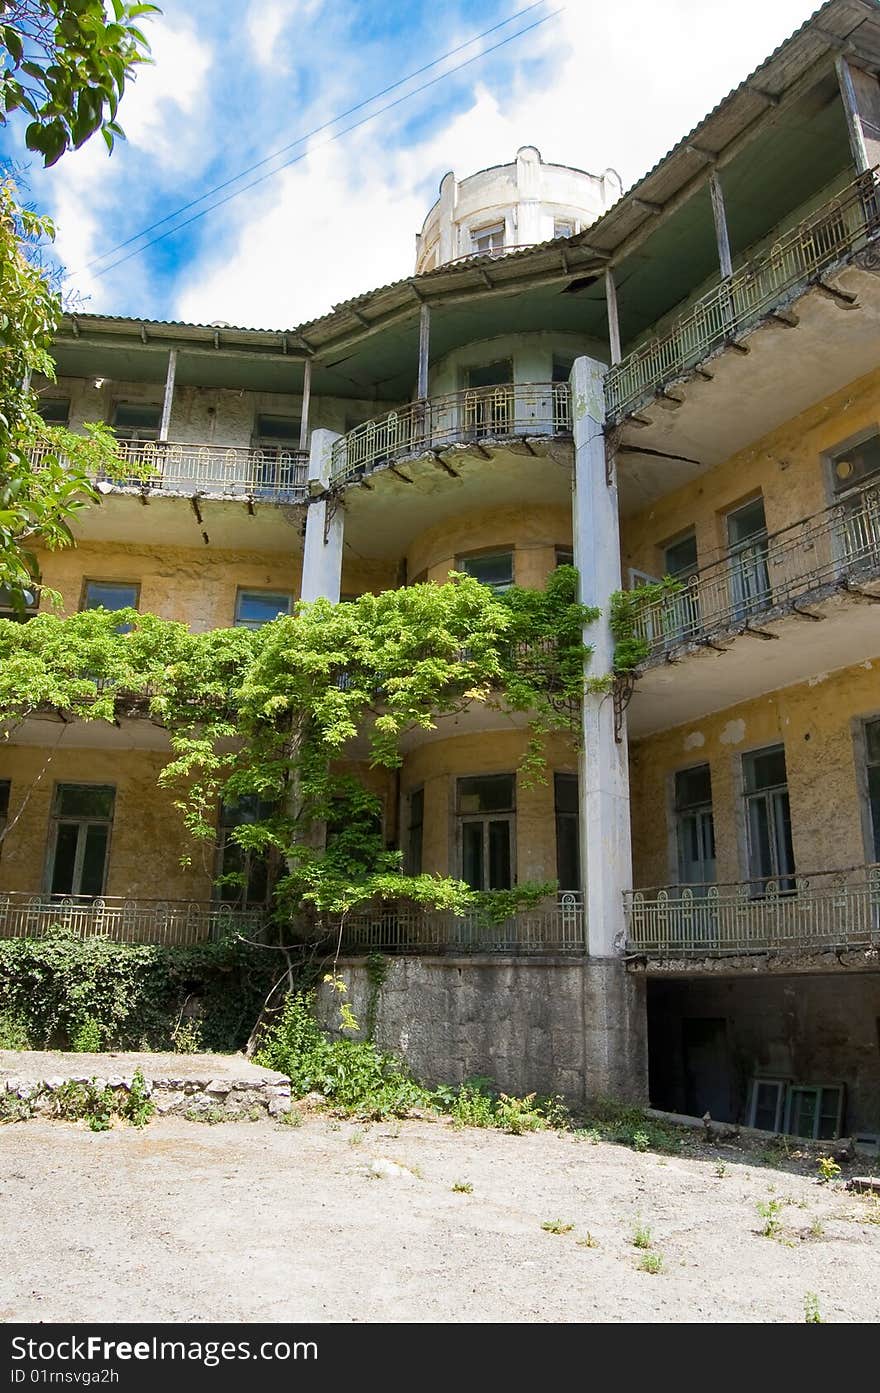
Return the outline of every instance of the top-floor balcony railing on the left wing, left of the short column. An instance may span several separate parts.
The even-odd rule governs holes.
[[[308,497],[306,450],[249,450],[237,446],[171,444],[159,440],[120,440],[123,465],[107,479],[116,488],[220,499],[263,499],[301,503]],[[32,451],[32,462],[47,450]],[[125,465],[131,475],[125,475]]]

